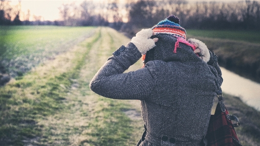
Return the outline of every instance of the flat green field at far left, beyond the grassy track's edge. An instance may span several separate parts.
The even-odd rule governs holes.
[[[92,35],[92,27],[0,26],[0,73],[21,76]]]

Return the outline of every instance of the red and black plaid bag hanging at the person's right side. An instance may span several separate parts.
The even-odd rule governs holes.
[[[220,105],[217,104],[215,114],[210,117],[206,135],[207,146],[242,146],[238,141],[232,121],[227,118],[227,114],[229,114],[227,109],[222,112]]]

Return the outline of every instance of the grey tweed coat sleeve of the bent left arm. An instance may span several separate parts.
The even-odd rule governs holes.
[[[141,58],[133,43],[122,45],[99,69],[89,86],[95,93],[112,99],[145,100],[155,86],[151,69],[145,67],[124,73]]]

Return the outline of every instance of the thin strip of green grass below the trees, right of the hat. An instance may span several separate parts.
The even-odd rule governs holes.
[[[196,30],[186,29],[187,34],[195,37],[228,39],[234,41],[260,43],[259,31],[242,30]]]

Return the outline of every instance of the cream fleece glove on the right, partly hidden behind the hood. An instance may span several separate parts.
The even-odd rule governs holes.
[[[208,50],[208,47],[206,46],[205,43],[196,40],[196,39],[189,39],[188,42],[190,43],[197,43],[198,44],[198,48],[200,49],[200,57],[202,58],[202,61],[204,61],[205,63],[207,63],[210,60],[210,52]]]

